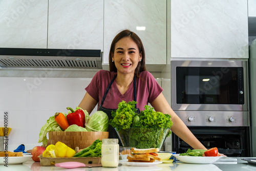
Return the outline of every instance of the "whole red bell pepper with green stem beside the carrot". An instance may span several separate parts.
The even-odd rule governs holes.
[[[71,113],[67,115],[67,119],[70,125],[76,124],[81,127],[85,127],[86,116],[84,115],[83,110],[78,109],[74,111],[72,108],[68,107],[67,110],[70,110]]]

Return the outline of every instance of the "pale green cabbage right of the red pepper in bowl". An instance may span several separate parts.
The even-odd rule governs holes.
[[[92,114],[86,123],[87,131],[105,132],[108,131],[108,127],[109,117],[102,111],[97,111]]]

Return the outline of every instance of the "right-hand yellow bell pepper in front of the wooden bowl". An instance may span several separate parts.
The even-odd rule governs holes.
[[[76,152],[74,149],[67,146],[65,143],[60,141],[56,142],[54,147],[54,153],[56,157],[73,157]]]

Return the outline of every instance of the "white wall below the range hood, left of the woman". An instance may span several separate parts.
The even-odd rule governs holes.
[[[56,112],[68,113],[82,100],[91,78],[0,77],[0,126],[9,111],[8,150],[24,144],[25,151],[38,142],[41,126]]]

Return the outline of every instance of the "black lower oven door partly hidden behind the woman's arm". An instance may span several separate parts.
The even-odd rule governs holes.
[[[217,147],[219,153],[228,157],[249,157],[250,133],[249,127],[205,127],[188,126],[188,129],[207,148]],[[193,149],[185,141],[172,133],[173,151],[185,153]]]

